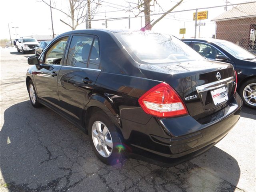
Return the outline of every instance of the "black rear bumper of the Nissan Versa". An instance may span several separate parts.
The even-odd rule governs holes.
[[[157,119],[166,137],[149,132],[147,135],[150,139],[145,141],[146,145],[131,140],[128,156],[160,166],[173,166],[188,160],[224,138],[239,120],[241,109],[242,100],[236,93],[226,108],[207,117],[209,122],[206,124],[200,124],[191,116]],[[148,123],[152,123],[152,120]]]

